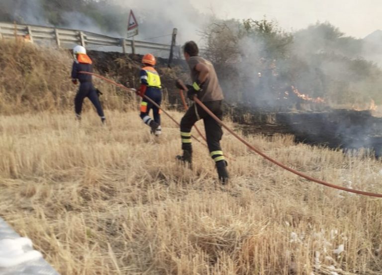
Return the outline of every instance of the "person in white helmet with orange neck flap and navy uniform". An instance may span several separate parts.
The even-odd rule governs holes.
[[[74,62],[72,67],[72,82],[77,85],[80,81],[80,89],[74,99],[74,108],[76,117],[81,120],[82,104],[84,99],[88,97],[97,110],[98,116],[101,118],[102,124],[105,123],[105,116],[103,114],[102,106],[99,102],[97,91],[92,83],[92,76],[88,74],[81,74],[80,71],[93,72],[92,60],[86,54],[86,49],[83,46],[75,46],[73,48]]]

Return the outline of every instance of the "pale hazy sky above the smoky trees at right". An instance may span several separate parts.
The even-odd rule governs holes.
[[[192,5],[217,17],[277,19],[286,31],[329,21],[348,36],[364,38],[382,29],[381,0],[192,0]]]

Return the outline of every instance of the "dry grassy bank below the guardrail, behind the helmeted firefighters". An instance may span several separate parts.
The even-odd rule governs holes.
[[[139,86],[139,55],[89,51],[95,72],[110,77],[128,87]],[[70,81],[73,57],[69,51],[42,48],[35,44],[0,41],[0,114],[72,110],[78,87]],[[173,69],[165,60],[158,60],[157,70],[162,76],[164,95],[172,103],[179,100],[175,89],[178,77],[187,79],[185,64],[178,61]],[[95,86],[103,92],[102,105],[109,110],[125,110],[135,95],[115,89],[95,79]],[[169,101],[167,101],[169,102]],[[85,110],[87,104],[85,103]]]

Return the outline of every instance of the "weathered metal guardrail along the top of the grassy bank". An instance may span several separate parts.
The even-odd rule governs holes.
[[[136,49],[150,49],[166,51],[170,53],[171,45],[153,43],[147,41],[137,41],[133,39],[117,38],[107,35],[97,34],[89,31],[55,28],[38,25],[23,25],[0,22],[1,38],[19,38],[36,43],[56,44],[57,47],[72,47],[73,44],[87,46],[115,46],[121,47],[123,53],[131,49],[135,53]],[[180,49],[180,47],[178,46]]]

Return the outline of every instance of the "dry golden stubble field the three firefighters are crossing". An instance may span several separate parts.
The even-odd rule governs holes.
[[[20,47],[24,58],[38,56]],[[226,132],[231,181],[221,186],[202,144],[193,142],[192,171],[175,161],[180,134],[165,116],[155,138],[136,102],[105,97],[107,125],[89,104],[79,124],[68,109],[69,69],[45,75],[49,62],[36,67],[30,59],[20,72],[12,47],[0,48],[0,215],[61,274],[382,274],[381,199],[308,182]],[[68,54],[53,55],[70,66]],[[25,75],[33,81],[22,82]],[[45,92],[31,94],[41,83]],[[291,136],[246,139],[309,175],[382,192],[375,159],[294,144]]]

